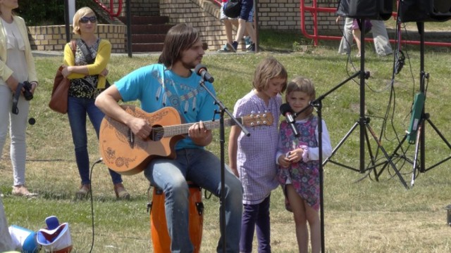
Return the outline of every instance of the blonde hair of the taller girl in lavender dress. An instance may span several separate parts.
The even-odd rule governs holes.
[[[285,67],[283,67],[283,65],[279,63],[278,60],[273,57],[268,57],[262,60],[259,65],[257,65],[252,86],[254,86],[257,91],[264,91],[268,89],[268,82],[273,78],[285,79],[285,84],[280,91],[281,93],[283,93],[283,91],[285,91],[285,89],[287,88],[287,70],[285,70]]]

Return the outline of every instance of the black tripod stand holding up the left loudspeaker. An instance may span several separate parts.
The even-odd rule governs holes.
[[[381,164],[386,164],[388,162],[388,164],[390,164],[390,166],[396,172],[397,176],[400,178],[400,181],[401,181],[402,185],[405,188],[408,188],[407,183],[404,181],[404,179],[402,178],[402,175],[400,174],[400,171],[397,170],[395,164],[393,164],[393,162],[391,160],[391,157],[385,151],[385,148],[383,148],[383,146],[381,145],[381,142],[379,141],[378,137],[374,133],[373,129],[371,129],[371,126],[369,125],[369,122],[370,122],[369,117],[365,117],[365,79],[369,78],[369,72],[365,72],[364,71],[365,70],[365,25],[364,25],[364,23],[365,23],[365,19],[364,18],[359,19],[359,27],[361,28],[360,29],[361,30],[361,33],[360,33],[360,41],[361,41],[361,45],[360,45],[360,70],[359,70],[359,72],[355,73],[350,78],[345,80],[345,82],[348,82],[350,79],[353,79],[354,77],[359,77],[359,79],[360,79],[360,113],[359,113],[359,120],[354,124],[354,126],[352,126],[350,131],[347,132],[345,137],[343,137],[342,140],[338,143],[338,145],[332,150],[332,153],[330,154],[330,157],[328,157],[323,162],[323,166],[327,162],[332,162],[333,164],[339,165],[341,167],[345,167],[347,169],[352,169],[354,171],[359,171],[362,174],[365,171],[370,171],[370,170],[373,170],[373,172],[376,174],[376,167],[380,166]],[[343,82],[343,83],[345,83],[345,82]],[[333,161],[331,159],[333,157],[333,155],[335,155],[335,153],[337,153],[338,149],[342,146],[342,144],[345,143],[345,141],[352,134],[352,132],[355,129],[357,129],[357,126],[359,126],[359,131],[360,131],[360,135],[359,135],[359,137],[360,137],[359,138],[359,144],[360,144],[359,145],[359,153],[360,153],[360,156],[359,156],[359,169],[354,168],[354,167],[350,167],[350,166],[348,166],[346,164],[342,164],[340,162]],[[371,145],[369,143],[368,131],[371,134],[371,136],[373,137],[374,141],[376,141],[378,150],[381,150],[381,152],[383,153],[383,155],[387,159],[386,162],[381,162],[379,164],[376,164],[376,158],[373,156],[373,152],[371,150]],[[366,147],[368,148],[368,153],[369,153],[369,156],[370,156],[369,158],[370,158],[371,166],[369,166],[369,167],[365,167],[365,143],[366,143]]]

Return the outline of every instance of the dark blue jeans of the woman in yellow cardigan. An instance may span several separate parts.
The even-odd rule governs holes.
[[[82,179],[82,184],[91,183],[89,180],[89,155],[87,153],[86,115],[94,126],[99,138],[101,120],[104,112],[101,112],[94,99],[89,98],[68,98],[68,117],[70,131],[72,131],[73,145],[75,145],[75,160],[77,161],[78,173]],[[121,174],[109,169],[113,183],[122,183]]]

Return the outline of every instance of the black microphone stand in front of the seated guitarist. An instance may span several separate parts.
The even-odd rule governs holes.
[[[220,202],[220,217],[219,217],[219,223],[220,223],[220,227],[221,227],[221,241],[222,241],[222,245],[223,245],[223,252],[226,253],[226,242],[227,242],[227,238],[226,238],[226,208],[224,207],[224,200],[225,200],[225,195],[224,195],[224,191],[226,190],[225,187],[225,174],[226,174],[226,160],[225,160],[225,149],[224,149],[224,143],[226,142],[226,138],[225,138],[225,129],[224,129],[224,112],[226,112],[230,119],[233,119],[233,121],[235,122],[235,124],[237,126],[240,126],[241,130],[243,131],[243,133],[246,134],[246,136],[250,136],[249,131],[247,131],[247,129],[240,123],[238,122],[238,120],[233,117],[233,115],[228,111],[228,109],[226,108],[226,106],[221,102],[221,100],[218,100],[218,98],[216,98],[216,96],[214,96],[214,94],[205,86],[205,82],[204,79],[202,78],[199,82],[199,85],[202,86],[202,88],[204,88],[206,90],[206,92],[208,92],[210,94],[210,96],[214,99],[214,103],[216,105],[219,106],[219,112],[215,110],[215,114],[219,114],[221,115],[221,117],[219,117],[219,137],[220,137],[220,147],[221,147],[221,196],[219,197],[219,202]],[[240,203],[240,205],[242,205],[242,203]]]

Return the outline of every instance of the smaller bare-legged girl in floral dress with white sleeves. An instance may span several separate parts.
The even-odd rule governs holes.
[[[296,77],[288,83],[285,99],[295,116],[299,137],[295,137],[290,125],[280,124],[276,161],[278,181],[285,193],[285,205],[295,217],[296,238],[299,252],[308,252],[309,230],[311,252],[321,252],[321,227],[319,221],[319,145],[318,117],[313,115],[310,101],[315,99],[315,88],[310,79]],[[301,112],[298,114],[298,112]],[[332,153],[330,138],[323,124],[323,159]]]

